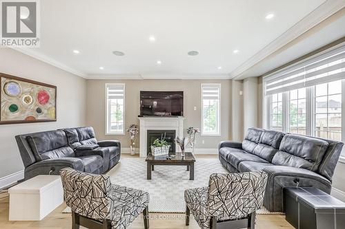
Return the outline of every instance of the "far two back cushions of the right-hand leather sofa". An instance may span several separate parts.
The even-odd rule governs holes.
[[[268,131],[259,128],[249,128],[246,138],[242,142],[242,149],[272,162],[273,156],[279,149],[284,133]]]

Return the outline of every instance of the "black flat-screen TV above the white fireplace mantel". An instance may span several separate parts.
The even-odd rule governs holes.
[[[184,91],[140,91],[140,116],[184,116]]]

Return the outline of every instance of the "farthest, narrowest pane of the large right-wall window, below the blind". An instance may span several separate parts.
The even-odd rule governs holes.
[[[271,95],[270,100],[270,129],[283,130],[283,98],[282,93]]]

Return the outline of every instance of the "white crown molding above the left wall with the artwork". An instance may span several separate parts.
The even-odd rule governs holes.
[[[12,48],[12,50],[17,50],[18,52],[21,52],[23,54],[26,54],[26,55],[31,56],[33,58],[36,58],[39,61],[43,61],[44,63],[48,63],[49,65],[52,65],[52,66],[57,67],[59,69],[63,69],[64,71],[70,72],[76,76],[80,76],[82,78],[87,78],[87,74],[80,72],[76,69],[73,69],[72,67],[68,67],[67,65],[60,63],[59,61],[55,61],[55,59],[50,58],[46,55],[39,54],[32,49],[24,48],[24,47],[11,47],[11,48]]]

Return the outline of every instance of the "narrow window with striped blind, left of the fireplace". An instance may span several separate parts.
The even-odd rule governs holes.
[[[125,85],[106,84],[106,134],[124,134]]]

